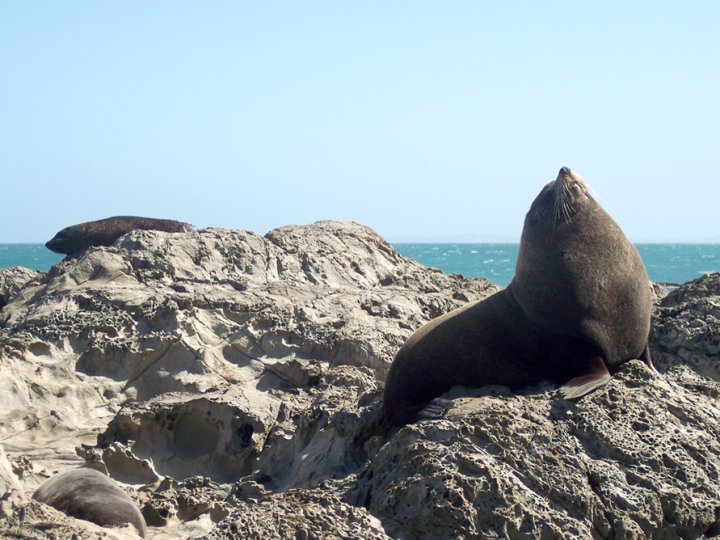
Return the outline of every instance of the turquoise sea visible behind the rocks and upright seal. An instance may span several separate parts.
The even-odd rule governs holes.
[[[393,244],[402,255],[448,274],[485,277],[507,285],[515,273],[518,244]],[[720,244],[638,244],[650,279],[684,283],[720,271]],[[47,271],[63,255],[43,244],[0,244],[0,268]]]

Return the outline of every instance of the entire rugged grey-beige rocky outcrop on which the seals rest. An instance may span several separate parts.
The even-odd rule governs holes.
[[[335,222],[134,231],[28,272],[0,271],[0,536],[42,537],[54,514],[27,494],[82,462],[149,538],[720,533],[717,275],[656,288],[660,374],[630,362],[574,403],[455,389],[444,418],[391,430],[396,350],[497,287]]]

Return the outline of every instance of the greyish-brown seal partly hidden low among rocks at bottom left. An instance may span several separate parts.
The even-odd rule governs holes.
[[[145,518],[130,496],[95,469],[80,468],[49,478],[33,499],[101,527],[133,525],[145,538]]]

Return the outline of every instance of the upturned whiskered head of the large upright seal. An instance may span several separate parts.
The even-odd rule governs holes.
[[[544,223],[554,232],[559,226],[570,223],[592,202],[590,189],[580,175],[563,167],[557,179],[548,182],[537,196],[527,217],[532,224]]]

